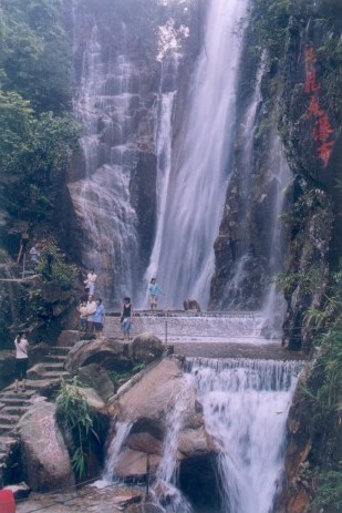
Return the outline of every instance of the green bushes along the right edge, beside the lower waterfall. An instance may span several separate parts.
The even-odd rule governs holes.
[[[342,511],[342,468],[335,454],[342,424],[342,271],[333,273],[320,309],[307,311],[315,336],[318,357],[302,399],[310,411],[313,447],[309,459],[315,491],[313,507]]]

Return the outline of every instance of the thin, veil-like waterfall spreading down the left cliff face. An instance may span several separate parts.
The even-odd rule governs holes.
[[[74,23],[83,19],[74,4]],[[96,294],[106,306],[118,306],[136,288],[138,261],[137,218],[131,205],[129,181],[134,161],[133,102],[137,102],[134,66],[125,57],[126,28],[122,23],[122,48],[105,61],[106,48],[94,17],[87,20],[90,38],[82,49],[82,70],[74,99],[74,114],[83,126],[83,176],[69,183],[82,228],[80,245],[84,266],[97,274]],[[74,28],[74,38],[80,28]],[[80,35],[81,38],[81,35]]]

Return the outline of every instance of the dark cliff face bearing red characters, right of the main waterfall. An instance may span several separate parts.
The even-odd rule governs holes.
[[[303,340],[310,350],[303,314],[321,305],[342,249],[341,8],[271,3],[253,2],[245,38],[240,125],[215,243],[211,307],[260,308],[268,281],[280,274],[289,346],[298,349]]]

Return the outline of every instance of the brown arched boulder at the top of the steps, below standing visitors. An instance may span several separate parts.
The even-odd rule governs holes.
[[[69,351],[64,367],[70,372],[90,363],[99,363],[110,370],[127,370],[132,362],[125,352],[125,346],[116,340],[80,340]]]

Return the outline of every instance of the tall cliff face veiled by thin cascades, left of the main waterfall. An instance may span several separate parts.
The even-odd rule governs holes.
[[[76,234],[69,247],[96,269],[97,291],[108,307],[126,295],[137,300],[148,265],[156,230],[158,99],[175,86],[168,55],[177,50],[173,38],[178,45],[187,39],[180,27],[189,21],[178,3],[73,2],[74,113],[83,126],[83,152],[69,173],[65,202]],[[188,57],[193,34],[197,39],[193,29]]]

